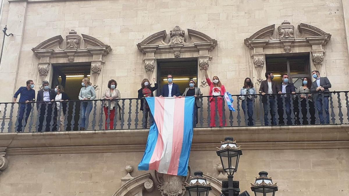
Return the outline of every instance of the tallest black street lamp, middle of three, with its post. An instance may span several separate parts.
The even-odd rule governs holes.
[[[233,175],[238,169],[242,150],[232,137],[225,137],[224,142],[221,142],[221,147],[216,148],[218,149],[217,155],[221,158],[223,170],[228,174],[228,195],[233,196],[240,191],[240,189],[233,187]]]

